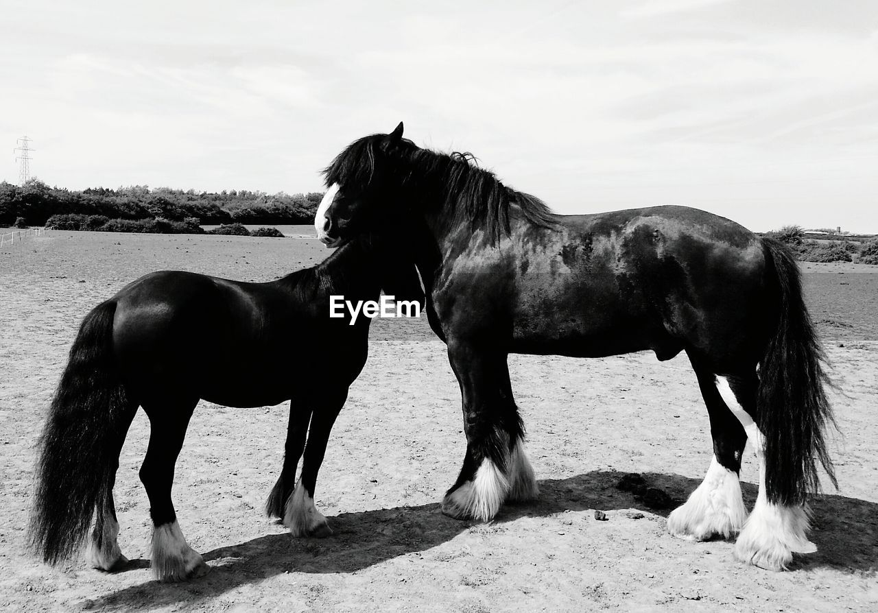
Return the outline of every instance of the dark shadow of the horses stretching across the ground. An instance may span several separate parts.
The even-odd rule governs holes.
[[[566,510],[640,508],[666,517],[672,505],[686,499],[700,480],[677,474],[644,473],[649,487],[667,494],[669,508],[650,508],[644,498],[617,486],[623,472],[594,471],[560,480],[540,481],[540,497],[519,505],[507,505],[494,520],[510,523],[521,517],[543,517]],[[756,487],[742,483],[745,502],[752,508]],[[874,572],[878,566],[878,503],[825,495],[812,501],[811,538],[816,554],[796,558],[791,570],[830,567],[848,572]],[[148,581],[83,602],[86,609],[145,610],[175,602],[194,602],[227,593],[248,583],[258,583],[281,573],[354,573],[404,556],[427,551],[469,530],[474,522],[443,516],[439,504],[385,508],[342,513],[329,518],[333,535],[324,539],[295,539],[271,534],[246,543],[203,553],[212,571],[185,583]],[[126,568],[143,568],[146,560],[132,560]]]

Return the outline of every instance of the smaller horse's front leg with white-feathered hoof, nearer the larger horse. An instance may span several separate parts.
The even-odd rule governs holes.
[[[320,471],[320,465],[326,455],[329,433],[347,399],[348,389],[344,388],[343,391],[327,393],[314,404],[311,428],[305,446],[305,459],[302,461],[302,475],[289,500],[286,501],[284,512],[284,525],[290,529],[293,537],[322,538],[332,534],[327,518],[314,506],[314,487],[317,485],[317,472]]]

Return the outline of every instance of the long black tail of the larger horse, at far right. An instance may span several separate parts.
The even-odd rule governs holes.
[[[762,245],[769,271],[774,269],[777,319],[759,364],[756,421],[765,437],[768,501],[795,505],[820,489],[817,460],[838,487],[824,441],[825,427],[835,422],[824,390],[824,352],[802,298],[798,263],[781,242],[764,238]]]

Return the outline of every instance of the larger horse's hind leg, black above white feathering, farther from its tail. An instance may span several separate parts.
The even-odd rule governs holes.
[[[702,484],[668,516],[667,530],[691,540],[728,538],[741,530],[747,516],[738,480],[747,436],[717,389],[714,374],[693,364],[708,407],[714,455]]]

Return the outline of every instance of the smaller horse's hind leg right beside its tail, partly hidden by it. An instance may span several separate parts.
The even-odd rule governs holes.
[[[137,405],[134,404],[119,417],[117,439],[112,450],[109,450],[112,464],[107,469],[110,472],[107,489],[97,501],[95,529],[91,532],[86,554],[91,566],[104,571],[117,571],[128,563],[128,559],[119,549],[119,521],[116,518],[116,506],[113,504],[112,487],[116,482],[116,471],[119,469],[119,453],[122,451],[122,444],[125,443],[125,436],[136,413]]]

